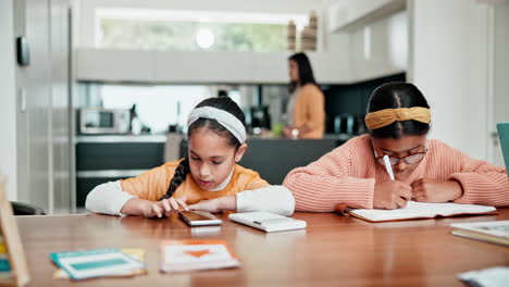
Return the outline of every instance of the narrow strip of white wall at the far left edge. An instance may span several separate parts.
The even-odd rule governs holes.
[[[9,200],[17,199],[13,11],[13,0],[0,1],[0,174],[8,176]]]

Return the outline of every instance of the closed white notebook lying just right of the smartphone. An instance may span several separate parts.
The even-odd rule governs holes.
[[[306,228],[306,222],[270,212],[245,212],[229,214],[229,220],[266,233]]]

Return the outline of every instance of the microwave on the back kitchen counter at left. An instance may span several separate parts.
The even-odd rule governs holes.
[[[78,113],[79,134],[128,134],[129,110],[84,108]]]

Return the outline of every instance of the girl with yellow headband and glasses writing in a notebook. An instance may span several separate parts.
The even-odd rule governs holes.
[[[332,212],[338,203],[398,209],[409,200],[509,205],[505,169],[426,139],[430,124],[430,105],[414,85],[389,83],[376,88],[368,103],[368,135],[286,176],[283,185],[293,191],[296,210]]]

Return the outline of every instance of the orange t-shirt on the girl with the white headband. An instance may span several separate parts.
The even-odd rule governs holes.
[[[166,194],[179,163],[181,161],[166,162],[137,177],[122,180],[122,190],[141,199],[157,201]],[[244,190],[253,190],[266,186],[269,186],[269,183],[262,179],[257,172],[235,164],[232,179],[224,189],[218,191],[202,189],[193,175],[188,173],[186,179],[182,182],[172,197],[186,196],[187,203],[194,204],[201,200],[234,196]]]

